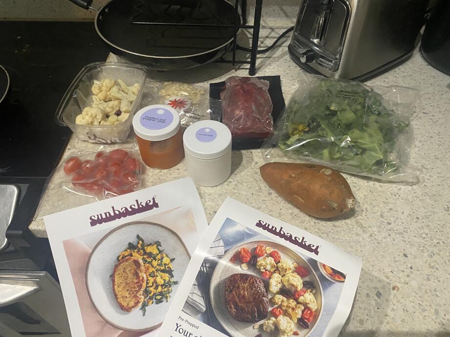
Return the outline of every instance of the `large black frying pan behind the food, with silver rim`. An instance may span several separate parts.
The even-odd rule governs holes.
[[[92,0],[70,1],[93,9]],[[151,69],[176,70],[220,58],[233,42],[236,15],[226,0],[111,0],[97,11],[95,29],[112,53]]]

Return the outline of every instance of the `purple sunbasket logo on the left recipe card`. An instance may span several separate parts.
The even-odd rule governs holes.
[[[158,202],[156,201],[156,196],[152,199],[147,200],[146,202],[141,202],[139,200],[135,200],[134,204],[131,204],[128,207],[122,207],[116,209],[114,206],[111,207],[111,211],[106,211],[104,213],[99,213],[95,215],[91,215],[89,217],[90,227],[103,224],[105,222],[114,221],[117,219],[125,218],[127,216],[139,214],[146,211],[151,211],[154,208],[158,208]]]

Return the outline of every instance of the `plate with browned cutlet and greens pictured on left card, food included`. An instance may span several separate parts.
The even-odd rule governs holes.
[[[116,328],[156,329],[189,260],[183,241],[170,229],[145,221],[121,225],[90,253],[86,268],[90,300]]]

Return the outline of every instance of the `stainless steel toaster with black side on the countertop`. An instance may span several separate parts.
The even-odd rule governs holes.
[[[428,0],[302,0],[289,52],[312,73],[364,80],[405,61]]]

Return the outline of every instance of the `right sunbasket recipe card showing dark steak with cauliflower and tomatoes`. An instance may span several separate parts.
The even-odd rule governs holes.
[[[361,264],[309,232],[227,198],[158,337],[336,337]]]

